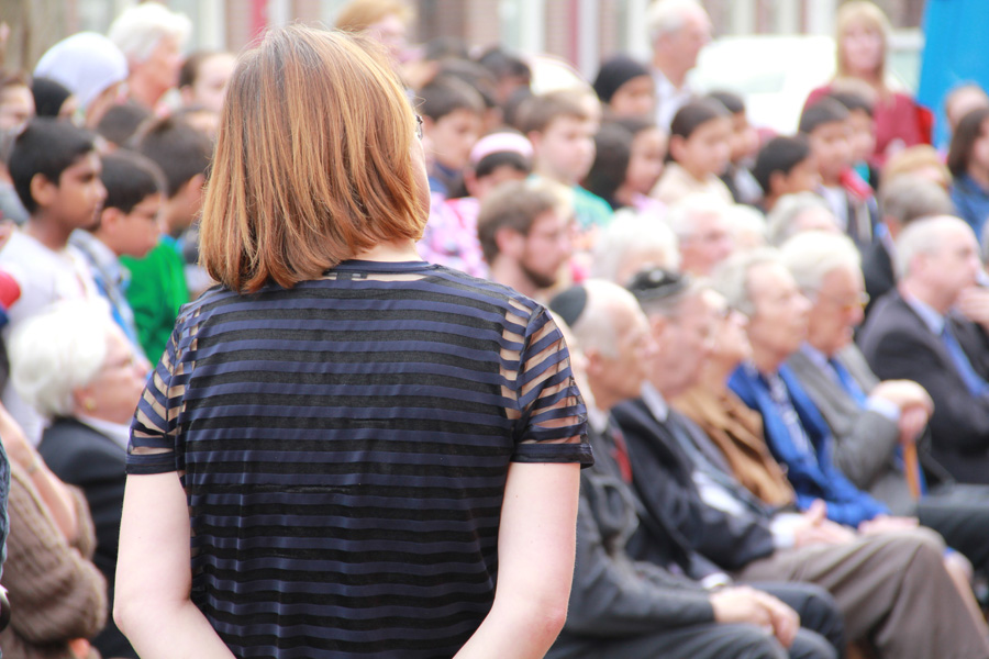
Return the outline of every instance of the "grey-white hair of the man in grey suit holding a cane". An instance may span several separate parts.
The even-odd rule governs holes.
[[[804,294],[820,291],[821,281],[832,270],[862,268],[855,243],[843,234],[804,232],[787,241],[779,254]]]

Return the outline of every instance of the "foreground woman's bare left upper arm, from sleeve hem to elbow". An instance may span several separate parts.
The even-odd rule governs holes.
[[[178,473],[129,476],[116,561],[118,613],[154,601],[188,600],[189,541],[189,509]]]

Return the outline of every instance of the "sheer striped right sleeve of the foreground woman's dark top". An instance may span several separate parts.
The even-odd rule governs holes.
[[[525,328],[515,379],[520,416],[516,462],[593,463],[587,444],[587,409],[570,372],[563,334],[538,306]]]

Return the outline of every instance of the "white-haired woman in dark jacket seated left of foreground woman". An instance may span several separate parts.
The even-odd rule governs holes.
[[[109,587],[109,612],[125,446],[146,362],[107,311],[88,302],[59,303],[26,321],[11,337],[10,354],[18,392],[51,420],[41,457],[55,476],[80,488],[89,503],[97,540],[93,562]],[[92,643],[104,657],[137,657],[112,621]]]

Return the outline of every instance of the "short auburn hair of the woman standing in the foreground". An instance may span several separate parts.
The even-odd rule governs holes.
[[[316,279],[381,243],[418,241],[429,213],[414,139],[412,107],[375,44],[302,25],[268,32],[230,81],[201,265],[253,292]]]

